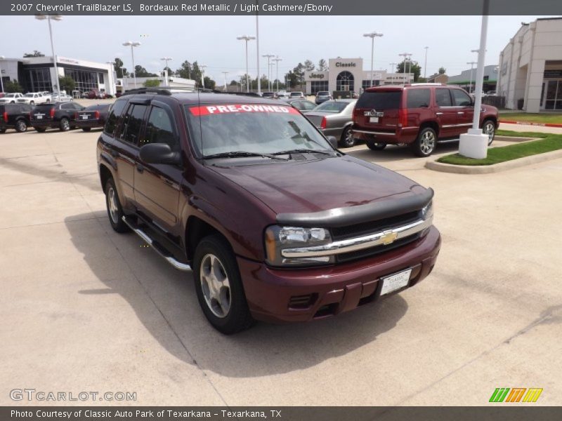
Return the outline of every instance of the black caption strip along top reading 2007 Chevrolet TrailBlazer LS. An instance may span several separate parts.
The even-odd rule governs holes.
[[[485,13],[488,3],[488,13]],[[562,15],[561,0],[2,0],[1,15]]]

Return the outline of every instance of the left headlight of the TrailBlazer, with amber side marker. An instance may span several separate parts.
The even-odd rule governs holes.
[[[285,248],[322,246],[332,242],[329,231],[324,228],[279,227],[272,225],[266,229],[266,260],[272,266],[319,265],[334,262],[333,256],[318,258],[285,258],[281,251]]]

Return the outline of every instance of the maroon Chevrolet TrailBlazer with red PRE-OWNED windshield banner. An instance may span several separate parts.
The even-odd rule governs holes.
[[[109,222],[192,268],[217,330],[334,316],[433,269],[432,189],[339,153],[286,102],[141,92],[98,139]]]

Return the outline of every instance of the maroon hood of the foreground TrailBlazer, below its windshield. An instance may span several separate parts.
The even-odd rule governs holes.
[[[403,175],[351,156],[208,168],[254,194],[275,213],[319,212],[425,191]]]

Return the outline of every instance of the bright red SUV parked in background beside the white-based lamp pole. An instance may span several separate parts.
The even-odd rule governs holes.
[[[442,83],[412,83],[368,88],[353,112],[353,135],[367,147],[411,145],[417,156],[429,156],[438,142],[454,142],[472,126],[474,102],[464,89]],[[480,126],[494,140],[497,108],[482,105]]]

